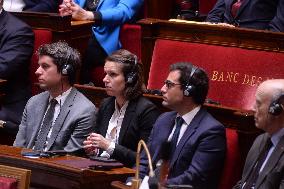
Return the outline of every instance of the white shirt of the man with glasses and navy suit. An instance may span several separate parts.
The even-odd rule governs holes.
[[[188,113],[186,113],[186,114],[184,114],[184,115],[182,116],[184,122],[183,122],[183,124],[182,124],[182,126],[181,126],[181,128],[180,128],[180,133],[179,133],[179,136],[178,136],[177,145],[178,145],[178,143],[179,143],[181,137],[183,136],[184,132],[186,131],[188,125],[191,123],[192,119],[193,119],[194,116],[197,114],[197,112],[200,110],[200,108],[201,108],[201,106],[197,106],[196,108],[194,108],[193,110],[191,110],[190,112],[188,112]],[[177,117],[178,117],[178,116],[180,116],[180,115],[177,115]],[[175,123],[175,126],[174,126],[174,128],[173,128],[173,130],[172,130],[172,132],[171,132],[171,134],[170,134],[170,136],[169,136],[169,138],[168,138],[168,141],[171,141],[171,140],[172,140],[173,134],[174,134],[175,129],[176,129],[176,124],[177,124],[177,123]]]

